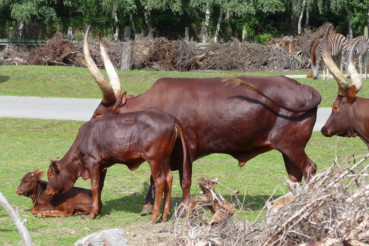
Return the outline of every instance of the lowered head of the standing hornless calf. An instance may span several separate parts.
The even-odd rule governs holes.
[[[76,171],[71,168],[63,166],[60,161],[51,160],[49,170],[47,171],[49,182],[46,187],[46,194],[55,195],[58,193],[67,193],[76,183],[79,176],[79,173],[76,173]]]

